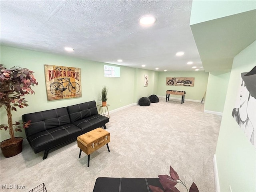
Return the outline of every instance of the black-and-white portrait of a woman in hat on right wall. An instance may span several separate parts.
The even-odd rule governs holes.
[[[250,72],[242,72],[240,82],[232,116],[256,148],[256,66]]]

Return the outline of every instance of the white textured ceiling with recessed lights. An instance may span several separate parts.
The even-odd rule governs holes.
[[[0,1],[0,6],[2,45],[135,68],[145,64],[148,70],[202,67],[189,26],[192,1]],[[140,26],[138,19],[148,14],[156,23]],[[185,54],[176,56],[179,51]]]

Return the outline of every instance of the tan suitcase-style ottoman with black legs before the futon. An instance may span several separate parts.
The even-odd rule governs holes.
[[[88,167],[90,163],[90,154],[104,145],[107,145],[108,152],[110,152],[108,143],[110,142],[110,133],[102,128],[96,128],[85,134],[77,137],[77,146],[80,148],[79,158],[81,152],[88,155]]]

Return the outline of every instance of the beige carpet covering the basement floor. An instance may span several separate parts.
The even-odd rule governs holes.
[[[78,159],[76,142],[51,151],[45,160],[26,140],[17,156],[1,153],[0,191],[28,192],[44,183],[48,192],[92,192],[98,177],[155,178],[169,174],[172,165],[181,180],[186,176],[188,188],[195,182],[200,192],[213,192],[220,122],[221,116],[204,113],[197,102],[160,98],[150,106],[131,106],[110,114],[110,153],[106,146],[92,153],[90,167],[86,154]]]

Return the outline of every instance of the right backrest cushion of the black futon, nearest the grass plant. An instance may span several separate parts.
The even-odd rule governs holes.
[[[76,105],[68,106],[67,108],[68,108],[71,122],[75,122],[83,118],[98,114],[95,101],[76,104]]]

